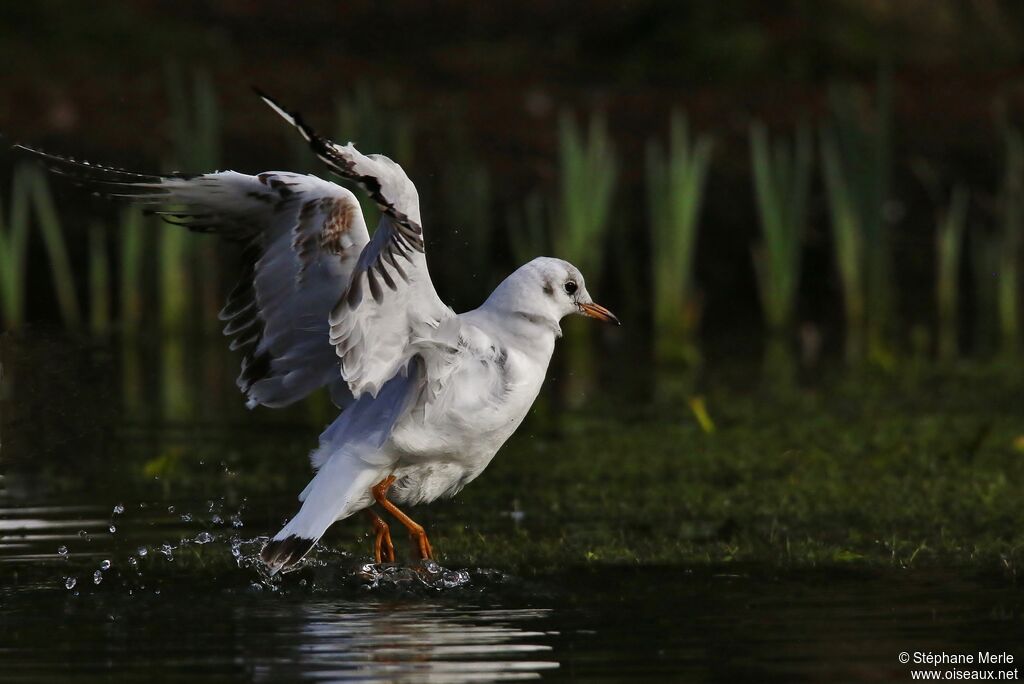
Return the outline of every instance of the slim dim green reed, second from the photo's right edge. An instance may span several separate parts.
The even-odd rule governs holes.
[[[957,184],[949,206],[939,216],[935,233],[935,304],[938,316],[938,355],[950,361],[957,354],[959,269],[967,227],[970,193]]]

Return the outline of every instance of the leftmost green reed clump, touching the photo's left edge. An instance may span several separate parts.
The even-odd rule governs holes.
[[[30,167],[14,169],[6,217],[0,207],[0,316],[4,330],[25,324],[26,271],[29,249]]]

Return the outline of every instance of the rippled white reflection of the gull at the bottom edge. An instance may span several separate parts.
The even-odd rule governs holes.
[[[481,682],[535,679],[558,667],[548,635],[529,626],[544,609],[436,604],[303,605],[287,640],[294,654],[256,668],[257,681],[301,672],[321,680]]]

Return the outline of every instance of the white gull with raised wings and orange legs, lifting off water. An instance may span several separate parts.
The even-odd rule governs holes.
[[[242,243],[245,270],[220,318],[244,354],[237,382],[247,405],[285,407],[327,386],[342,410],[310,454],[315,474],[298,513],[261,551],[269,571],[294,569],[328,527],[360,511],[376,562],[395,562],[375,504],[431,559],[426,531],[398,504],[454,497],[483,472],[537,398],[562,318],[618,319],[594,302],[580,269],[552,257],[457,314],[430,280],[419,196],[401,166],[332,142],[257,93],[378,205],[373,238],[356,197],[312,175],[147,175],[22,148],[101,195]]]

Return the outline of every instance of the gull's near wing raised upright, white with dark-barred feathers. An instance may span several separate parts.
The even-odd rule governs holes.
[[[376,395],[424,340],[454,339],[455,312],[438,298],[427,270],[420,200],[400,166],[318,135],[297,114],[260,93],[295,126],[328,167],[364,187],[382,211],[348,288],[331,312],[331,342],[352,394]]]

